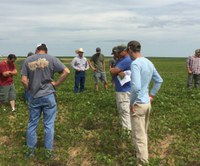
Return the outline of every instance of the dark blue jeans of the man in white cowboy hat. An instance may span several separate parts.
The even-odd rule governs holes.
[[[80,92],[83,92],[85,89],[85,71],[76,71],[75,72],[75,85],[74,92],[79,92],[79,84],[80,84]]]

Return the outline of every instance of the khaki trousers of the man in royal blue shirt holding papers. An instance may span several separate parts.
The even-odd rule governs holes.
[[[116,92],[116,103],[122,127],[127,130],[131,130],[130,93]]]

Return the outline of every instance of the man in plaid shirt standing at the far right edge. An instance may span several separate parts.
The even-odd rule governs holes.
[[[200,49],[195,50],[195,54],[187,59],[188,80],[187,87],[191,88],[194,80],[194,87],[198,88],[200,82]]]

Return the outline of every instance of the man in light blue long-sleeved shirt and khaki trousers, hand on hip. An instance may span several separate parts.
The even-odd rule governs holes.
[[[130,41],[127,51],[133,60],[131,63],[130,113],[132,140],[136,148],[137,165],[148,164],[148,122],[151,101],[158,92],[163,79],[153,63],[141,55],[138,41]],[[149,95],[149,84],[154,81]]]

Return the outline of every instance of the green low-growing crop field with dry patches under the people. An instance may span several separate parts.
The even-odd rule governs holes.
[[[61,59],[67,67],[69,59]],[[152,166],[200,165],[200,90],[186,89],[185,58],[150,58],[164,83],[152,103],[149,126],[149,155]],[[22,59],[16,62],[18,71]],[[43,156],[43,121],[38,127],[38,145],[33,158],[24,157],[28,107],[20,72],[15,77],[16,112],[0,111],[1,166],[134,166],[131,138],[121,129],[115,92],[94,91],[92,70],[87,71],[86,90],[73,93],[74,71],[57,88],[58,112],[55,121],[54,158]],[[57,75],[56,75],[57,77]]]

